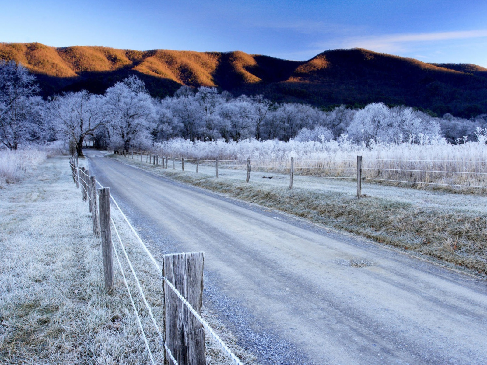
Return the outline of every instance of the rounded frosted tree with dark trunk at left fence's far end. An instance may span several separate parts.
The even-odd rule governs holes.
[[[85,138],[94,137],[98,129],[104,128],[112,113],[101,96],[82,90],[56,96],[49,105],[49,116],[58,138],[73,141],[76,152],[83,156]]]

